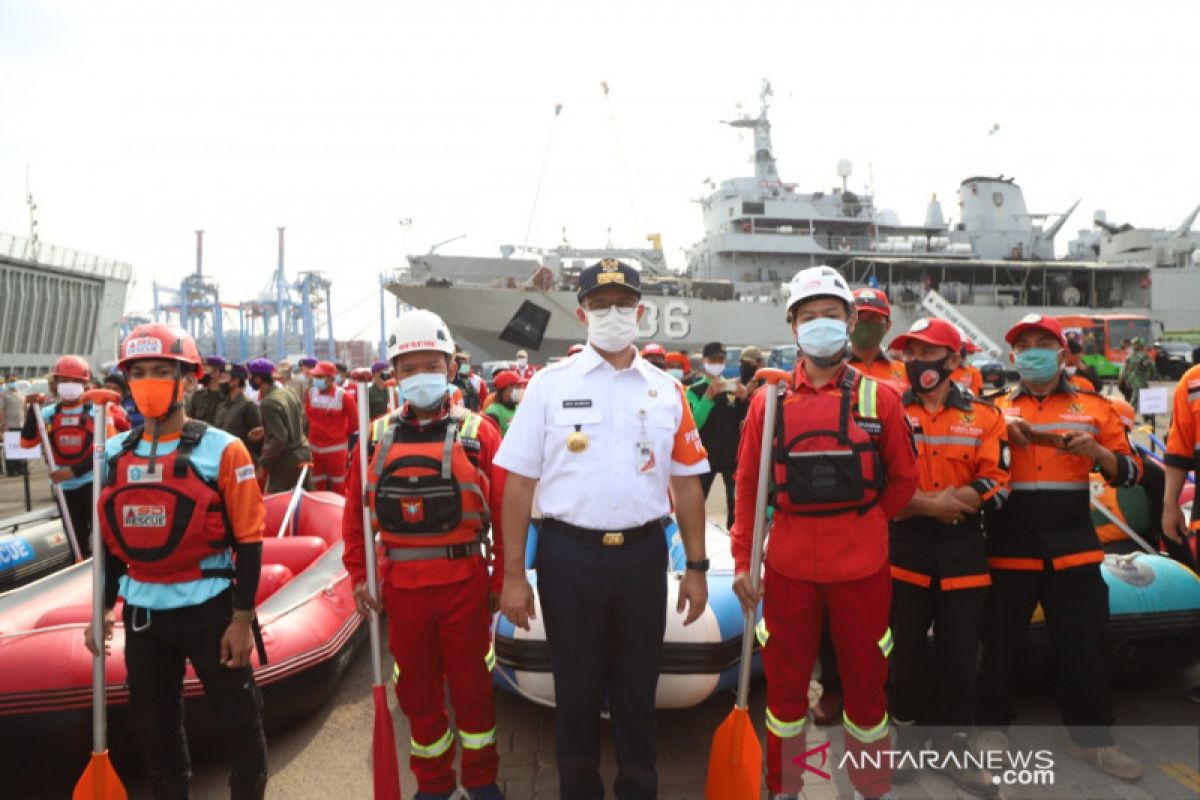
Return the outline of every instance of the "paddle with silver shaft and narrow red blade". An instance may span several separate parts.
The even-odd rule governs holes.
[[[371,509],[367,505],[367,437],[371,431],[367,425],[367,397],[371,383],[370,369],[355,369],[350,380],[359,385],[359,475],[361,475],[362,505],[362,551],[366,557],[367,591],[371,600],[379,601],[379,578],[376,573],[374,530],[371,528]],[[379,614],[371,610],[368,620],[371,628],[371,669],[374,681],[371,691],[374,694],[374,730],[371,739],[371,764],[374,769],[376,800],[400,800],[400,763],[396,760],[396,732],[391,724],[391,711],[388,710],[388,687],[383,680],[383,632],[379,626]]]

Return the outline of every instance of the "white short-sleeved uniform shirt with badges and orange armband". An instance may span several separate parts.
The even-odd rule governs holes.
[[[546,517],[595,530],[646,524],[671,512],[671,476],[709,471],[683,392],[640,355],[618,371],[587,347],[529,381],[496,464],[540,481]],[[582,452],[568,449],[576,431]]]

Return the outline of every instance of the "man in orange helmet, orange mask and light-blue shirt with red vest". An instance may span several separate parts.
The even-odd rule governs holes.
[[[107,443],[103,626],[108,639],[122,596],[130,711],[151,794],[188,796],[182,700],[191,663],[229,747],[230,796],[258,800],[266,739],[250,656],[258,643],[265,662],[254,624],[265,511],[254,464],[241,440],[187,419],[184,395],[202,366],[186,331],[133,329],[119,366],[145,425]],[[91,626],[84,643],[96,652]]]

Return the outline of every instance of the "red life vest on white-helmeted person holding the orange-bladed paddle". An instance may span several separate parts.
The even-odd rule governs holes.
[[[791,395],[775,415],[775,507],[802,516],[866,513],[886,476],[878,446],[878,384],[851,367],[841,392]]]

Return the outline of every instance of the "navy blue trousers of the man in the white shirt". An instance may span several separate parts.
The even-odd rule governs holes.
[[[584,541],[546,521],[538,591],[554,672],[559,793],[602,800],[600,712],[617,752],[618,800],[658,793],[654,693],[666,631],[667,547],[661,534],[620,547]]]

